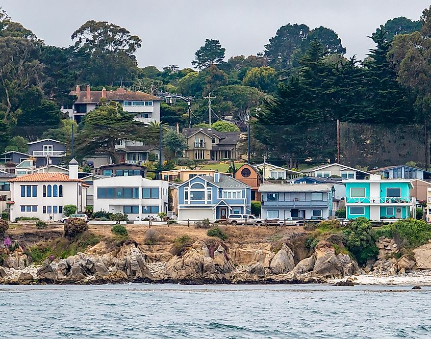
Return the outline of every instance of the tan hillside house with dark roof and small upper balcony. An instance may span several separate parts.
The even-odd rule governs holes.
[[[183,128],[188,149],[185,157],[191,160],[238,159],[240,132],[218,132],[212,128]]]

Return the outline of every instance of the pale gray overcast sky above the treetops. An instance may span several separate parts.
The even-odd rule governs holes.
[[[142,39],[140,67],[190,67],[206,38],[218,39],[227,58],[256,54],[282,25],[323,25],[338,33],[348,57],[363,59],[371,35],[398,16],[419,19],[429,0],[2,0],[14,21],[46,44],[68,46],[87,20],[109,21]]]

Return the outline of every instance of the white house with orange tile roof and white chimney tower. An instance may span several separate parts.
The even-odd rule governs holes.
[[[40,220],[59,220],[64,205],[75,205],[83,211],[87,185],[78,179],[78,162],[69,162],[69,174],[35,173],[9,180],[11,186],[11,220],[35,217]]]

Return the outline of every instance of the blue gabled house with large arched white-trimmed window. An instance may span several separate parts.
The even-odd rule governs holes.
[[[226,219],[251,213],[251,187],[232,176],[194,176],[178,186],[178,219]]]

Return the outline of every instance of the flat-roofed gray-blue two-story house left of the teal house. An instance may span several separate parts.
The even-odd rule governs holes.
[[[262,184],[262,218],[333,216],[333,184]]]

